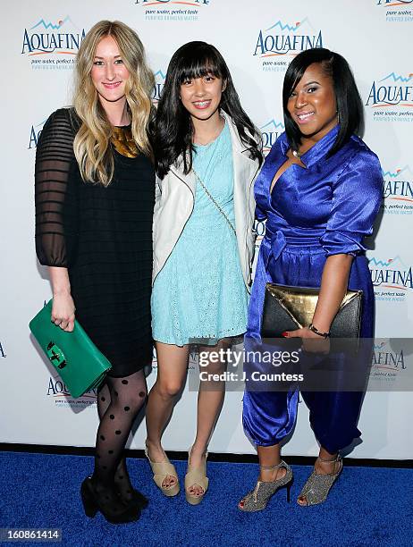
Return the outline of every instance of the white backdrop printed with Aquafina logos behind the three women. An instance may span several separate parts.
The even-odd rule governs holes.
[[[413,362],[409,350],[390,339],[411,337],[413,325],[413,0],[21,0],[8,5],[2,30],[0,442],[93,446],[95,440],[96,394],[70,397],[38,354],[28,323],[51,297],[46,268],[38,265],[34,251],[38,135],[50,113],[71,105],[76,52],[101,19],[124,21],[137,30],[156,75],[155,100],[177,47],[194,39],[217,46],[242,105],[263,132],[265,152],[283,130],[282,80],[293,56],[325,46],[347,58],[365,105],[364,139],[380,157],[384,176],[383,206],[367,251],[376,335],[383,337],[375,344],[372,374],[382,391],[367,392],[359,420],[363,442],[351,456],[411,459],[413,398],[401,390]],[[263,230],[257,225],[259,235]],[[194,356],[190,374],[197,373]],[[149,387],[155,378],[156,358]],[[196,399],[196,393],[184,391],[164,434],[165,448],[190,446]],[[210,450],[254,451],[242,432],[241,400],[241,391],[228,392]],[[131,448],[142,448],[144,439],[142,423]],[[316,450],[301,403],[284,453]]]

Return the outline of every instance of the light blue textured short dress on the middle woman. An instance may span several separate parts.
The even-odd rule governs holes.
[[[217,139],[196,146],[193,166],[235,226],[232,143],[226,123]],[[247,306],[235,234],[197,183],[192,215],[154,283],[154,340],[215,345],[246,331]]]

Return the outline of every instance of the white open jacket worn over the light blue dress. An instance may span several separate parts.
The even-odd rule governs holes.
[[[249,290],[251,265],[254,257],[255,234],[252,232],[255,215],[254,181],[259,162],[249,157],[249,150],[241,142],[238,130],[231,117],[221,114],[228,123],[232,141],[233,201],[235,230],[244,282]],[[196,180],[191,171],[182,173],[183,160],[172,165],[161,181],[156,177],[156,201],[154,209],[153,243],[154,268],[152,283],[173,252],[181,233],[192,214],[195,202]],[[216,242],[219,245],[219,241]]]

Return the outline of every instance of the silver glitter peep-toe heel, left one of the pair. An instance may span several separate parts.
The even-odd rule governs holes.
[[[268,466],[268,467],[260,466],[260,467],[261,469],[283,468],[283,469],[286,469],[286,473],[280,479],[272,483],[257,481],[256,487],[254,488],[254,490],[249,492],[240,501],[240,503],[242,503],[242,507],[240,506],[240,503],[238,504],[238,508],[241,511],[254,512],[254,511],[261,511],[262,509],[265,509],[266,504],[268,503],[268,501],[270,501],[274,493],[277,492],[277,490],[280,490],[281,488],[287,489],[287,501],[290,503],[290,491],[291,491],[291,485],[292,485],[291,467],[288,466],[285,463],[285,461],[282,461],[282,460],[276,466]]]

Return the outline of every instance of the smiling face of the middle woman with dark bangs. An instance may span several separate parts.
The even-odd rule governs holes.
[[[223,80],[213,74],[181,83],[181,102],[193,122],[209,120],[215,116],[218,118],[222,94]]]

